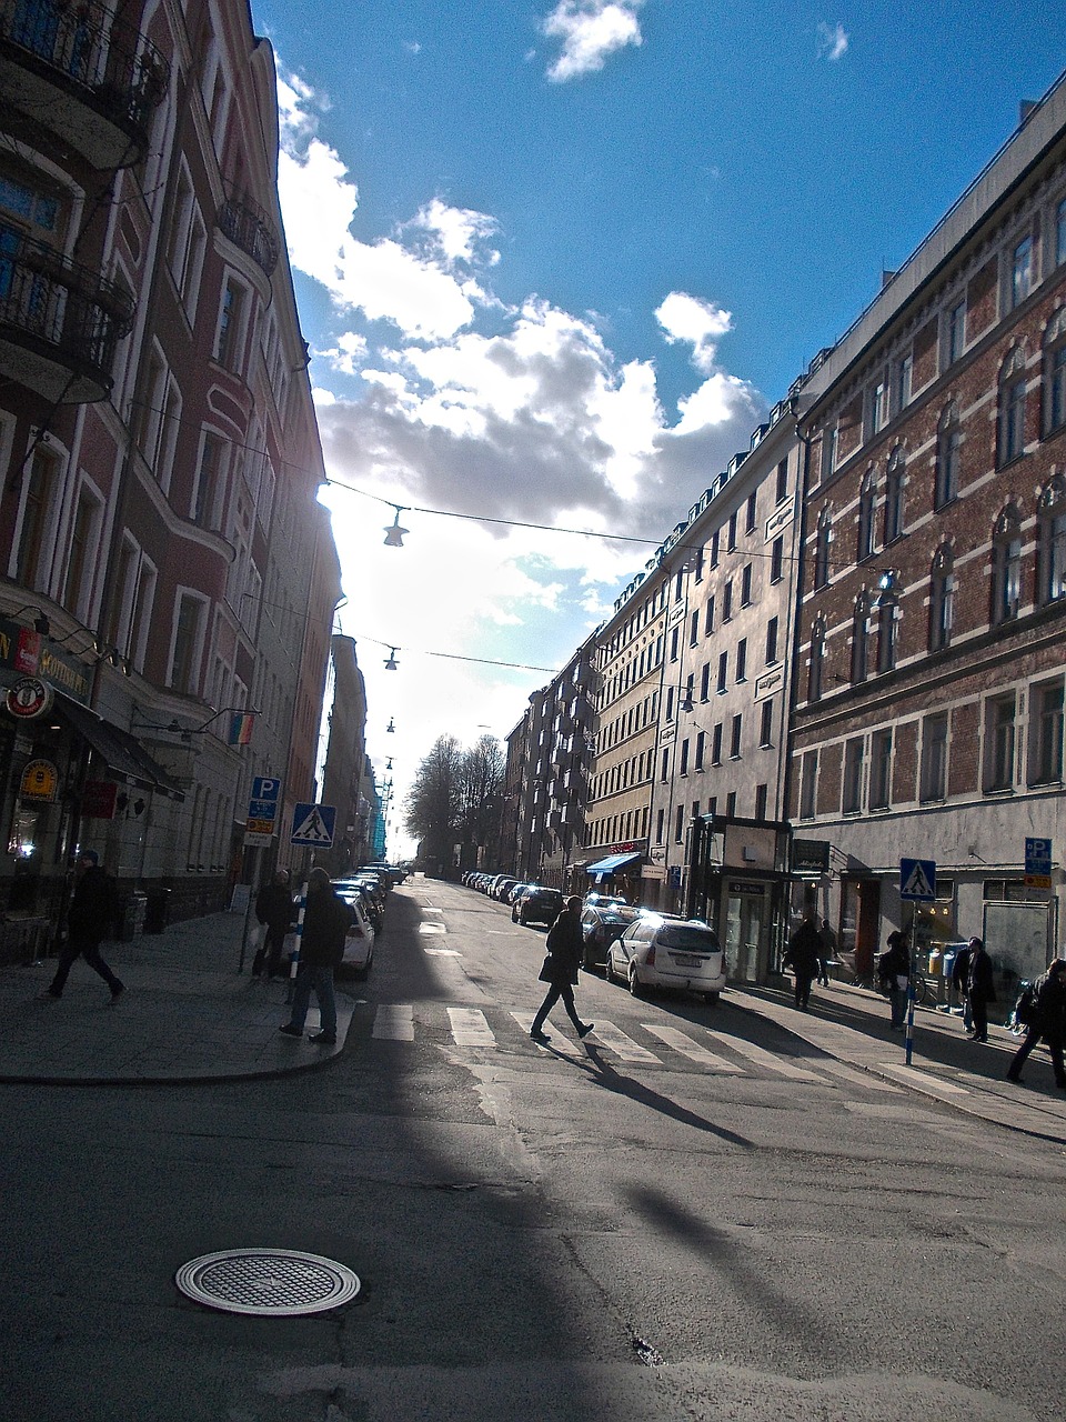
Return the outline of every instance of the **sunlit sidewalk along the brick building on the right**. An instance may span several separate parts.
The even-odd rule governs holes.
[[[969,1041],[961,1017],[915,1007],[907,1066],[905,1039],[888,1030],[888,1003],[877,993],[840,983],[816,987],[807,1012],[793,1007],[790,983],[786,990],[731,987],[728,1000],[850,1066],[1008,1130],[1066,1145],[1066,1091],[1055,1085],[1048,1048],[1035,1048],[1025,1085],[1015,1085],[1005,1079],[1006,1068],[1022,1038],[1003,1027],[991,1024],[982,1045]]]

